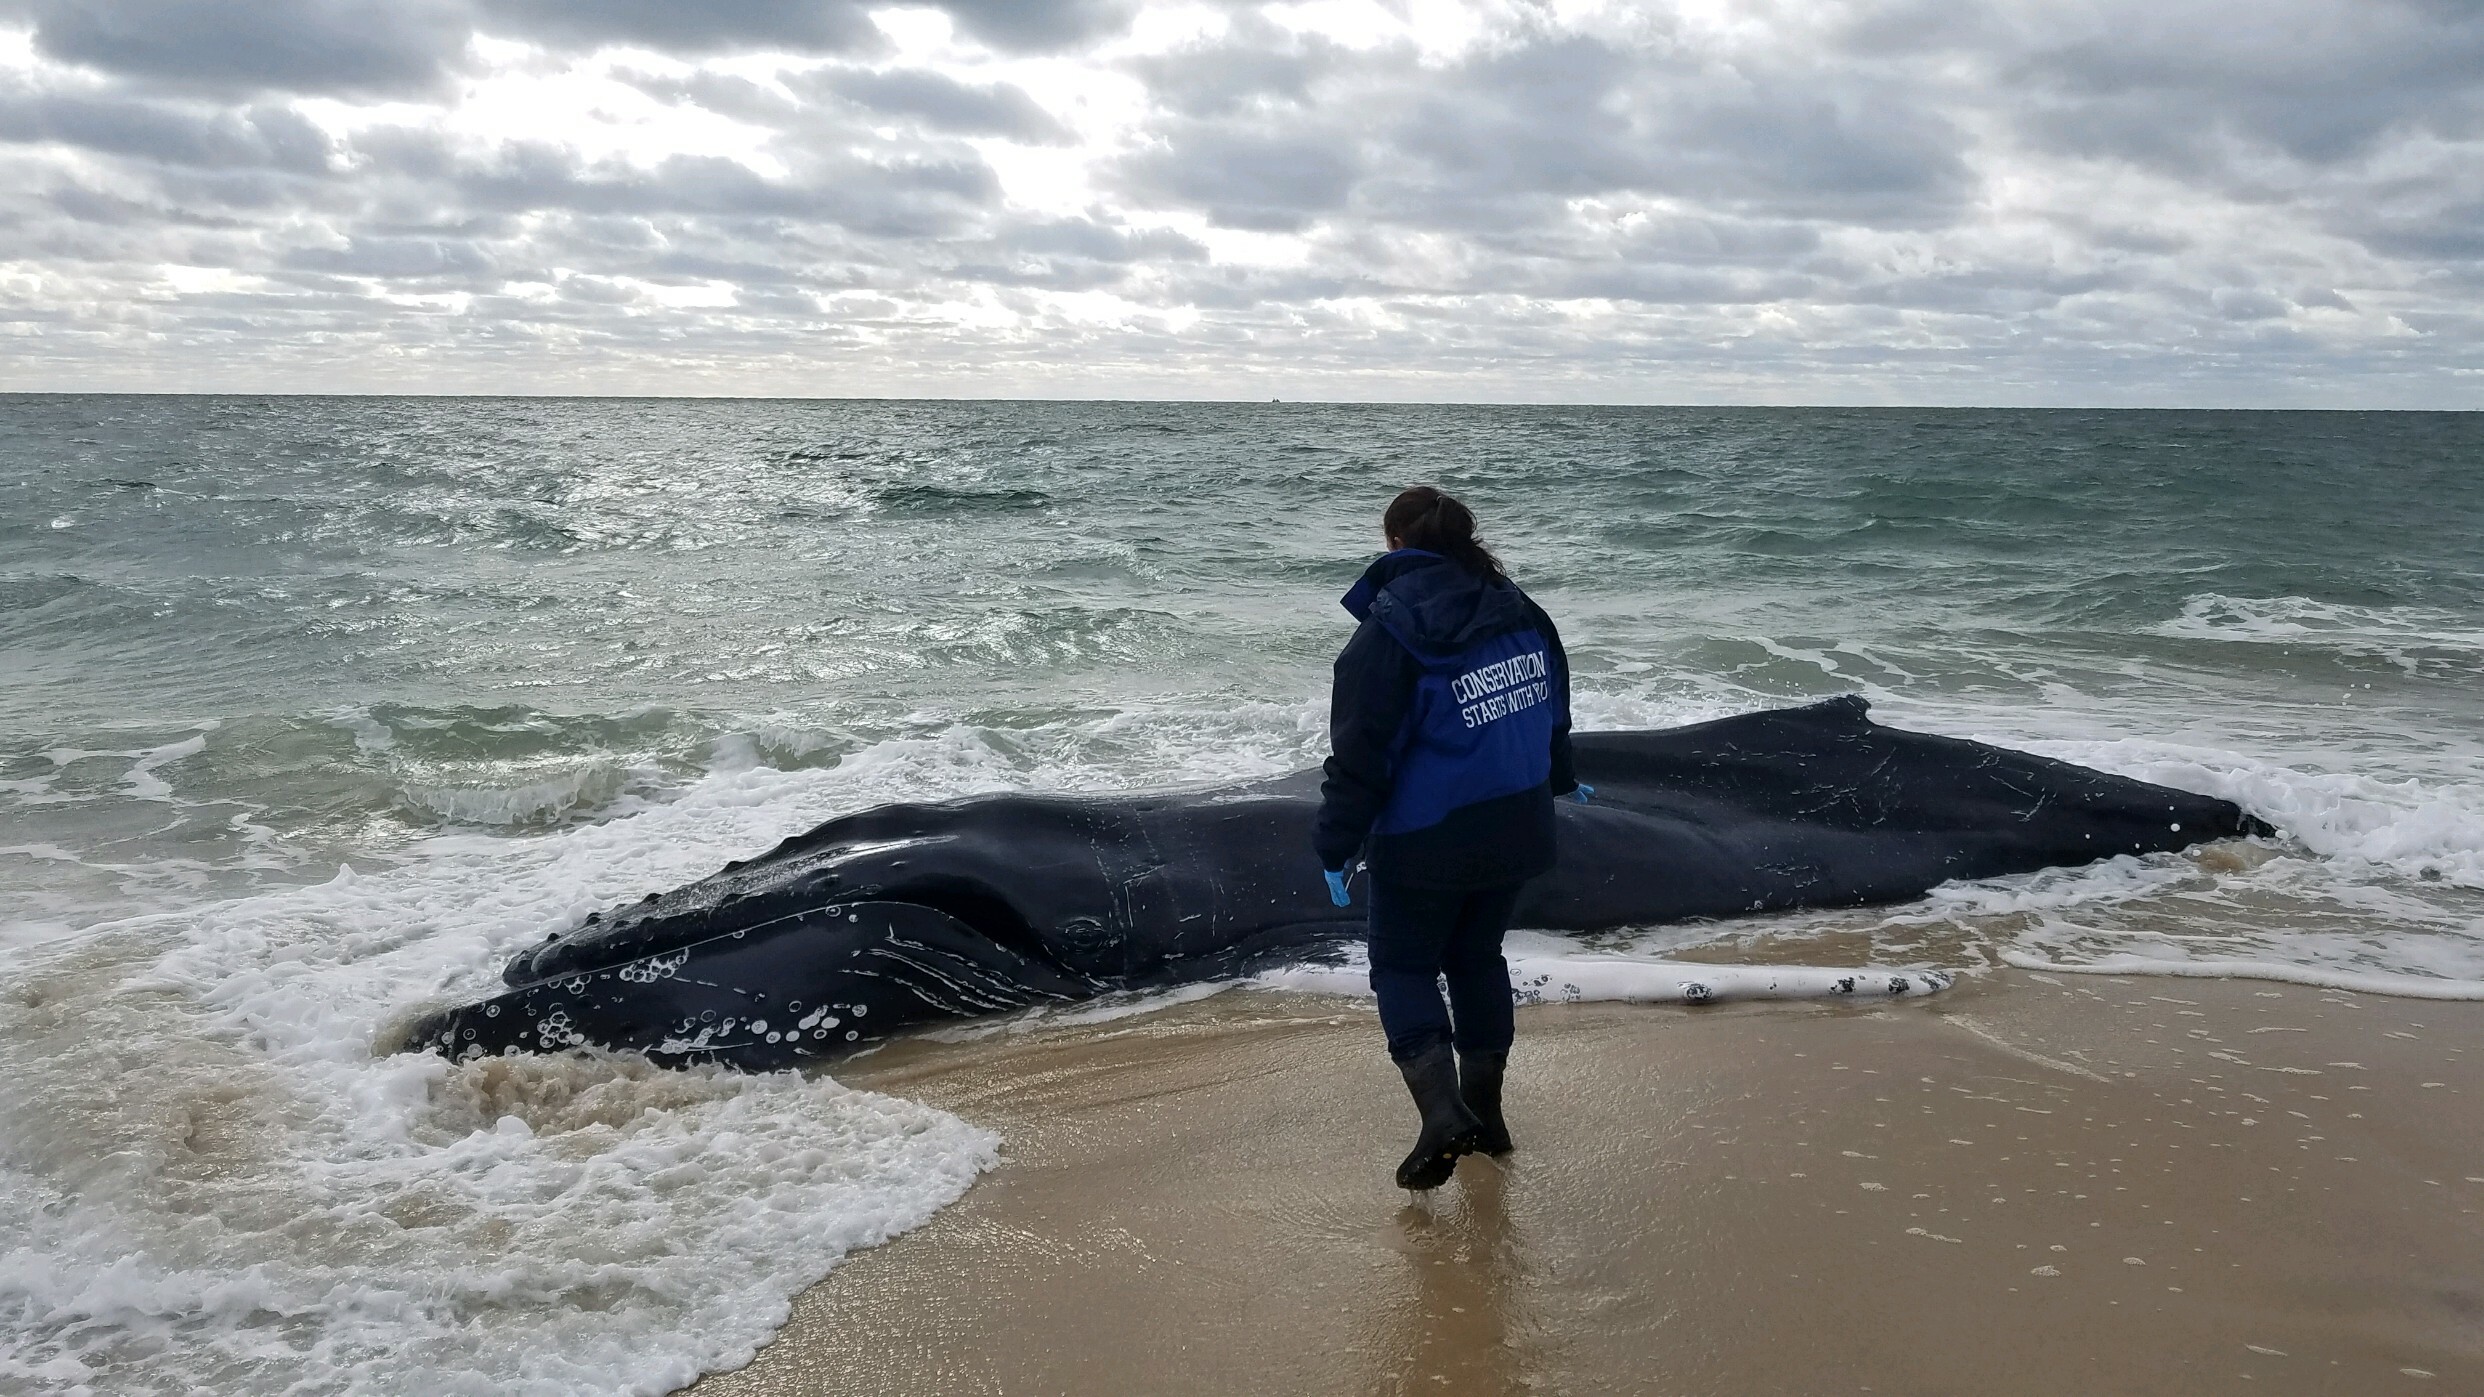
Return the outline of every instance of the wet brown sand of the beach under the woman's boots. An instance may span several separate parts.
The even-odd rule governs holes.
[[[1428,1198],[1359,1004],[847,1064],[1006,1163],[693,1392],[2484,1392],[2484,1004],[1997,972],[1518,1032],[1520,1153]]]

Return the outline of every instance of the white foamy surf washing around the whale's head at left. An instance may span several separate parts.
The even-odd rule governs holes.
[[[989,788],[969,733],[738,766],[539,835],[92,927],[0,979],[0,1387],[671,1390],[745,1360],[996,1141],[827,1076],[375,1044],[544,927],[899,793]],[[127,1071],[127,1061],[147,1071]],[[214,1223],[201,1223],[214,1218]]]

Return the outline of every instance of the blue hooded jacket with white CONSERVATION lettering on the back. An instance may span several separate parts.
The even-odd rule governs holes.
[[[1552,798],[1570,771],[1570,659],[1543,607],[1503,577],[1398,549],[1344,597],[1361,626],[1336,656],[1321,868],[1361,853],[1418,887],[1505,887],[1552,868]]]

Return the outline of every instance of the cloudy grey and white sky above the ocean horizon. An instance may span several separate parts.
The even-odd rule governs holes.
[[[2484,0],[0,0],[0,390],[2484,408]]]

